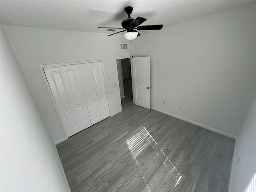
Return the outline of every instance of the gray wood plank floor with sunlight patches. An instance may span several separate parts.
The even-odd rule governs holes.
[[[134,105],[124,84],[122,112],[57,145],[72,192],[227,192],[235,140]]]

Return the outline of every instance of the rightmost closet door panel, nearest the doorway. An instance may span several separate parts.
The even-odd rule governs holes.
[[[110,112],[108,107],[108,97],[106,92],[102,62],[93,62],[91,63],[91,66],[92,66],[94,84],[96,87],[96,94],[97,94],[99,106],[100,106],[100,115],[102,119],[105,119],[110,116]]]

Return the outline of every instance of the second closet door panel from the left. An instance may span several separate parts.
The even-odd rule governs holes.
[[[68,90],[75,108],[80,130],[92,126],[86,100],[76,65],[62,66],[67,81]]]

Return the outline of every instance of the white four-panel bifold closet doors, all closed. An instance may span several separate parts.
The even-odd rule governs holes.
[[[43,69],[68,137],[110,116],[102,62]]]

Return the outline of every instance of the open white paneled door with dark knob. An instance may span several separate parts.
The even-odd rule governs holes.
[[[150,109],[150,57],[132,58],[134,104]]]

